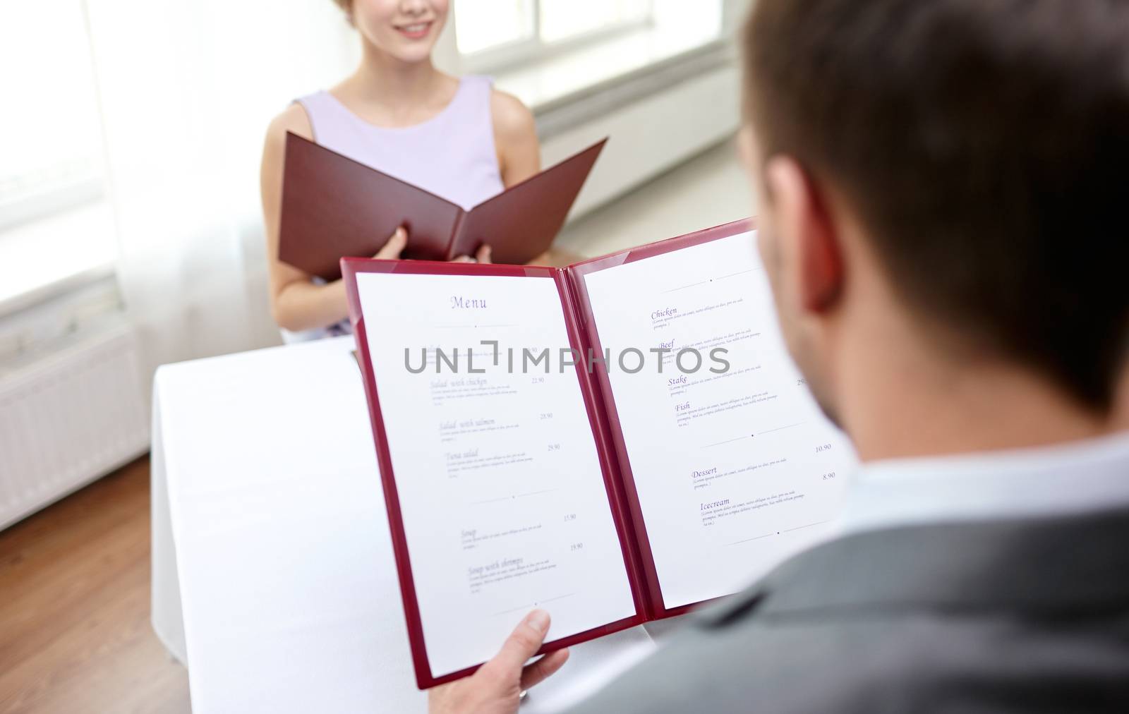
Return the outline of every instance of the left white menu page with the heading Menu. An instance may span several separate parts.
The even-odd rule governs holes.
[[[357,289],[432,674],[490,659],[534,607],[550,641],[634,616],[576,369],[520,363],[569,346],[554,281],[362,272]]]

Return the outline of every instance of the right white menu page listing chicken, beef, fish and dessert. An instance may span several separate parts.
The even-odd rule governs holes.
[[[825,538],[855,463],[785,349],[754,235],[584,277],[667,608],[736,592]],[[634,354],[619,364],[632,348],[634,374]],[[685,348],[697,372],[693,352],[677,367]]]

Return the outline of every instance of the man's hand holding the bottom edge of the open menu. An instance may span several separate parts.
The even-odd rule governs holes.
[[[522,691],[543,681],[564,665],[568,650],[525,663],[541,648],[549,632],[549,613],[534,610],[510,634],[495,659],[466,679],[428,693],[430,714],[514,714]]]

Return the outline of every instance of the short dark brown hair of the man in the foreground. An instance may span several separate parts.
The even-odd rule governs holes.
[[[833,183],[907,301],[1109,410],[1129,346],[1129,2],[759,0],[762,155]]]

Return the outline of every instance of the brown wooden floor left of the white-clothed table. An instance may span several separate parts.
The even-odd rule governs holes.
[[[149,569],[148,459],[0,531],[0,713],[189,712]]]

